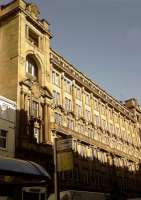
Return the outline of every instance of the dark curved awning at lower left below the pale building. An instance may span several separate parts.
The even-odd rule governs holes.
[[[0,157],[0,174],[13,176],[32,176],[34,178],[50,180],[48,172],[39,164],[15,158]]]

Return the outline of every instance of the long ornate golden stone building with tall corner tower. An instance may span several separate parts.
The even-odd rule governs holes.
[[[74,169],[60,173],[62,189],[134,196],[141,107],[119,102],[54,51],[39,14],[23,0],[0,8],[0,94],[17,103],[15,156],[52,171],[54,135],[72,135]]]

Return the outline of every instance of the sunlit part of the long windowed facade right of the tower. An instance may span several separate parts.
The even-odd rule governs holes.
[[[84,157],[95,155],[102,162],[111,160],[112,153],[115,162],[110,163],[116,166],[138,163],[141,141],[137,116],[54,51],[51,63],[54,125],[73,135],[75,151]],[[138,106],[134,99],[129,101]],[[135,170],[137,166],[132,167]]]

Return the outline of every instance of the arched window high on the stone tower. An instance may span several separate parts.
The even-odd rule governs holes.
[[[38,67],[37,67],[36,61],[30,55],[26,57],[25,71],[27,74],[35,78],[38,78]]]

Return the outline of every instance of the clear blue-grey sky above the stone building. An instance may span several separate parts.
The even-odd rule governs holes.
[[[51,24],[56,51],[118,100],[141,103],[141,0],[32,2]]]

